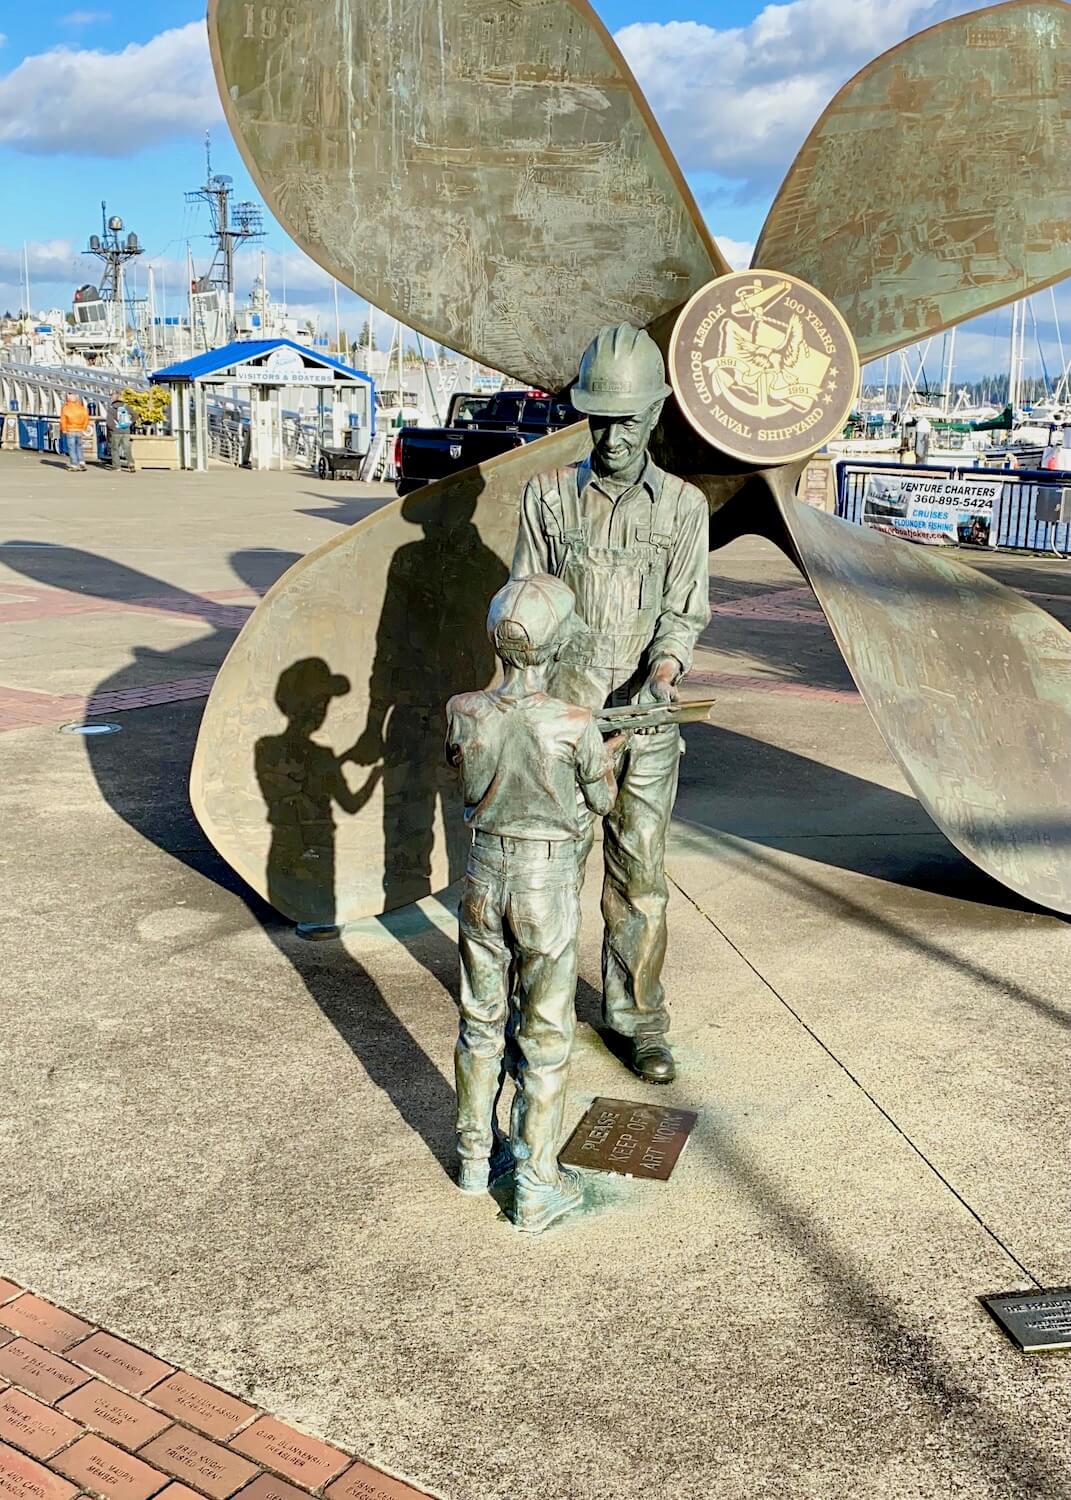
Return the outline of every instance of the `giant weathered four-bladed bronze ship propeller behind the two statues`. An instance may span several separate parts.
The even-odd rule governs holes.
[[[208,30],[231,130],[302,249],[525,384],[564,388],[621,321],[672,368],[682,309],[729,274],[586,0],[210,0]],[[1066,276],[1070,76],[1064,0],[992,6],[885,52],[804,142],[754,285],[777,273],[824,294],[866,362]],[[576,424],[384,506],[244,626],[190,789],[214,846],[285,915],[344,922],[460,873],[441,708],[492,675],[483,616],[525,482],[588,447]],[[800,567],[948,838],[1071,912],[1071,814],[1053,812],[1071,788],[1071,634],[954,558],[800,504],[806,452],[748,460],[668,400],[656,453],[708,496],[711,546],[756,532]],[[338,759],[302,752],[328,700],[342,759],[370,768],[338,826]]]

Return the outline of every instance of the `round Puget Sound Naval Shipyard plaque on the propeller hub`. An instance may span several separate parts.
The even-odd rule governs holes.
[[[842,430],[860,357],[820,291],[780,272],[734,272],[684,306],[669,380],[706,442],[765,466],[807,458]]]

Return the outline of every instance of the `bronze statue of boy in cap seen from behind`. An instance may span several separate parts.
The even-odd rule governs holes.
[[[576,628],[572,590],[537,573],[488,614],[504,681],[447,704],[472,848],[460,900],[460,1028],[454,1052],[459,1185],[488,1186],[513,986],[519,1053],[510,1125],[513,1222],[546,1228],[582,1202],[558,1164],[574,1032],[582,806],[614,806],[614,754],[588,708],[550,698],[546,674]]]

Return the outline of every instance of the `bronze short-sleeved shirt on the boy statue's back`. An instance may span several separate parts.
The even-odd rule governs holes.
[[[591,710],[546,693],[459,693],[447,704],[446,746],[465,822],[501,838],[579,838],[580,783],[598,783],[608,768]]]

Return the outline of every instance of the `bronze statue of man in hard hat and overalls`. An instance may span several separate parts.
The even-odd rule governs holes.
[[[512,576],[556,574],[586,626],[552,664],[548,692],[585,708],[675,699],[710,621],[706,501],[648,453],[669,392],[648,333],[603,328],[572,392],[591,426],[591,456],[537,474],[520,504]],[[662,966],[680,756],[675,724],[630,735],[603,819],[603,1017],[648,1083],[675,1077]],[[580,868],[592,838],[590,820]]]

